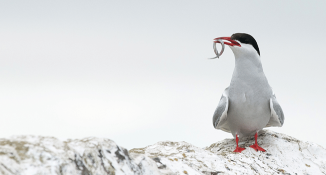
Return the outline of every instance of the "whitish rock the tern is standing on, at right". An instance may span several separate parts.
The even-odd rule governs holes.
[[[242,153],[233,152],[235,139],[205,148],[161,141],[129,152],[159,159],[157,166],[166,165],[171,174],[326,174],[326,149],[315,143],[270,130],[262,130],[258,136],[258,144],[266,152],[250,148],[254,142],[254,137],[240,138],[239,145],[246,148]]]

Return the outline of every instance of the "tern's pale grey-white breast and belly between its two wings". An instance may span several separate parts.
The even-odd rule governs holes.
[[[272,89],[257,52],[251,48],[242,48],[245,52],[231,48],[236,62],[229,86],[227,120],[234,136],[254,135],[266,126],[271,116],[269,100]]]

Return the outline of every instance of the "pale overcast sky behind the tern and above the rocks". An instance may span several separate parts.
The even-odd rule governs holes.
[[[326,147],[325,0],[0,1],[0,137],[106,137],[209,146],[234,55],[215,37],[258,42],[285,121]]]

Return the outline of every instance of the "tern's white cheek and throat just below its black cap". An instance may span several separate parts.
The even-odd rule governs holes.
[[[246,44],[246,43],[242,43],[238,40],[236,40],[237,42],[240,43],[240,46],[230,46],[230,48],[232,49],[235,58],[238,57],[260,57],[257,50],[251,45],[251,44]]]

